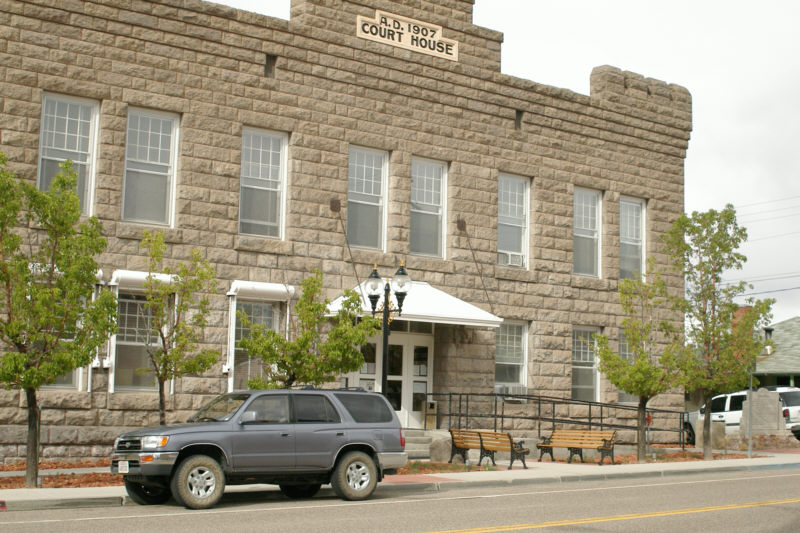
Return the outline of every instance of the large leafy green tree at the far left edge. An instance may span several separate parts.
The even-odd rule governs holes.
[[[80,221],[67,161],[47,191],[20,181],[0,153],[0,382],[25,392],[25,486],[39,475],[42,385],[88,365],[116,329],[110,291],[93,298],[95,256],[107,246],[97,218]],[[24,221],[24,224],[21,223]]]

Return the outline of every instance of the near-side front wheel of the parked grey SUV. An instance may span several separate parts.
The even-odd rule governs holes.
[[[208,509],[225,491],[225,474],[219,463],[207,455],[184,459],[172,475],[170,489],[176,501],[190,509]]]

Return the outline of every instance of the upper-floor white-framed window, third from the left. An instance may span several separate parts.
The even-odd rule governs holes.
[[[285,133],[243,130],[239,233],[283,238],[288,140]]]

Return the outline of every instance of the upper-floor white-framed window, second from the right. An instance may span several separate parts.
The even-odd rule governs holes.
[[[575,274],[600,276],[600,192],[575,189],[573,269]]]

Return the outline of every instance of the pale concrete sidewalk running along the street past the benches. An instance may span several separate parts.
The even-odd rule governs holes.
[[[507,464],[498,462],[498,470],[482,472],[458,472],[440,474],[413,474],[404,476],[387,476],[378,484],[375,495],[393,496],[409,493],[445,491],[467,486],[507,486],[536,485],[561,483],[568,481],[589,481],[606,479],[637,479],[648,477],[666,477],[686,474],[710,472],[747,472],[757,470],[800,469],[800,453],[793,450],[765,452],[759,450],[759,457],[753,459],[719,459],[715,461],[687,461],[674,463],[646,463],[625,465],[566,464],[560,462],[538,463],[531,458],[528,469],[517,463],[513,470],[507,470]],[[519,466],[517,466],[519,465]],[[76,469],[65,472],[108,472],[107,468]],[[42,471],[50,474],[52,471]],[[3,476],[20,475],[20,472],[3,472]],[[330,488],[323,487],[320,496],[331,495]],[[241,485],[226,487],[223,503],[236,501],[258,501],[271,497],[280,497],[278,487],[274,485]],[[10,489],[0,490],[0,510],[28,511],[77,507],[112,507],[120,505],[136,505],[131,502],[125,488],[87,487],[67,489]],[[174,503],[172,504],[174,505]]]

